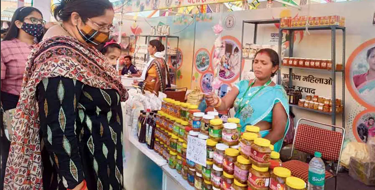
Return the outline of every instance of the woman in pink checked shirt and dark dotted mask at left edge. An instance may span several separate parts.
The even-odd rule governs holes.
[[[1,41],[1,107],[3,110],[16,108],[20,98],[22,78],[26,60],[43,32],[42,13],[34,7],[20,7],[12,17],[10,27]],[[2,112],[1,112],[2,113]],[[2,116],[1,122],[2,122]],[[8,127],[8,133],[12,129]],[[0,189],[3,189],[3,177],[8,157],[10,141],[4,133],[1,123],[1,177]]]

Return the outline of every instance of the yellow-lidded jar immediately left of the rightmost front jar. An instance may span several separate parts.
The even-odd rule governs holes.
[[[291,172],[287,168],[276,167],[270,177],[270,190],[285,189],[285,181],[291,176]]]

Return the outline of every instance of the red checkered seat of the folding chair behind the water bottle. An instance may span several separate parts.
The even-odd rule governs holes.
[[[282,166],[288,168],[293,176],[301,178],[303,181],[308,181],[309,179],[309,164],[301,162],[299,160],[291,160],[283,162]],[[326,171],[326,179],[333,177],[333,174],[329,171]]]

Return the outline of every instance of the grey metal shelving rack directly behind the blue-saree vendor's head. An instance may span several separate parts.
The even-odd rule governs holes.
[[[280,19],[264,19],[264,20],[251,20],[251,21],[242,21],[242,33],[241,33],[241,45],[243,48],[243,31],[245,28],[245,24],[254,24],[254,44],[257,44],[257,34],[258,34],[258,24],[277,24],[280,23]],[[279,31],[279,55],[281,55],[281,40],[282,40],[282,31]],[[240,63],[242,63],[242,60],[245,59],[243,58],[243,53],[241,51],[241,60]],[[251,60],[251,59],[248,59]],[[280,57],[280,65],[281,65],[281,57]],[[242,64],[240,64],[240,79],[242,75]],[[252,70],[251,70],[252,71]],[[278,84],[281,82],[281,68],[279,66],[279,71],[278,71]]]

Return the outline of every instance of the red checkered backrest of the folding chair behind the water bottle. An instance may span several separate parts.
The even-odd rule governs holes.
[[[311,155],[318,151],[322,153],[323,159],[338,161],[341,143],[342,133],[300,124],[296,131],[294,148]]]

